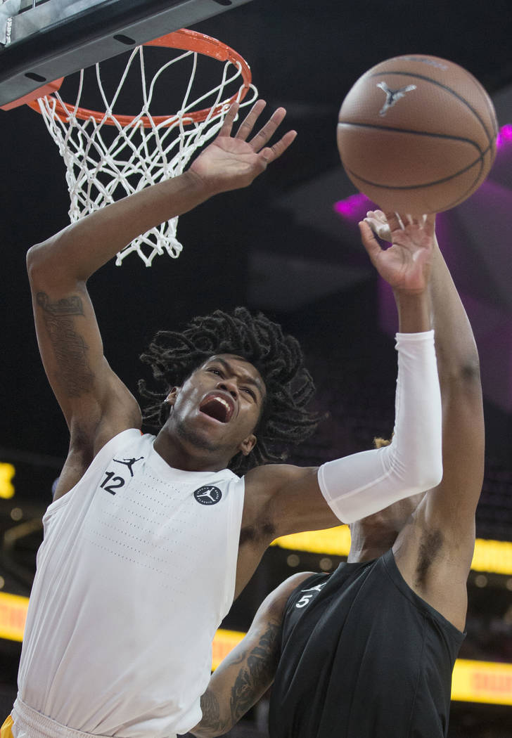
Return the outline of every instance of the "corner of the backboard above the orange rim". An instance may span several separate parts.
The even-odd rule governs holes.
[[[247,2],[0,0],[0,106]]]

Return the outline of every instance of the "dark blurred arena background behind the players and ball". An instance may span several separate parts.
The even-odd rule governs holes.
[[[330,418],[293,461],[321,463],[392,430],[395,317],[358,240],[365,205],[335,213],[355,193],[335,145],[338,108],[375,63],[403,53],[438,55],[473,73],[505,126],[480,190],[439,218],[438,235],[474,325],[482,359],[487,461],[477,535],[512,541],[512,8],[493,3],[395,0],[253,0],[194,26],[249,61],[269,109],[287,108],[298,138],[250,189],[183,215],[177,261],[146,269],[132,255],[89,283],[106,356],[134,392],[137,357],[159,328],[195,314],[246,305],[301,340]],[[0,55],[1,61],[1,55]],[[167,111],[170,112],[170,111]],[[0,500],[1,589],[28,595],[41,515],[66,455],[67,431],[41,368],[24,258],[66,225],[64,165],[41,117],[0,111],[3,284],[0,461],[16,467],[14,497]],[[351,208],[347,208],[347,213]],[[339,559],[270,549],[226,626],[244,630],[263,596],[293,571],[330,570]],[[491,567],[490,567],[491,568]],[[462,658],[512,662],[512,567],[472,572]],[[0,639],[1,706],[7,714],[20,645]],[[512,703],[512,680],[509,691]],[[265,702],[233,736],[264,736]],[[454,702],[451,738],[512,736],[510,706]]]

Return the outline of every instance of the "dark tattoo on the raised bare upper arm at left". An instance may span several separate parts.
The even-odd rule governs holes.
[[[57,359],[58,383],[68,397],[79,397],[89,392],[94,383],[87,357],[89,347],[75,330],[74,323],[75,315],[83,315],[81,298],[73,295],[50,303],[46,292],[38,292],[35,300],[43,311],[44,324]]]

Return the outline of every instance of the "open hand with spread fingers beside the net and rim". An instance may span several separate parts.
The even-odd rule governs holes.
[[[231,131],[239,106],[232,105],[219,135],[191,165],[190,171],[212,190],[224,192],[248,187],[295,139],[296,131],[288,131],[275,144],[267,146],[286,115],[284,108],[277,108],[263,128],[248,140],[265,105],[264,100],[253,105],[235,136]]]

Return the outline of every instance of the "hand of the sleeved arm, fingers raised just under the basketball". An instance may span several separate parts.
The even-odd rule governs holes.
[[[410,215],[370,210],[359,224],[361,241],[372,264],[393,289],[403,292],[423,292],[429,282],[434,251],[435,215],[412,218]],[[379,238],[391,241],[383,249]]]

